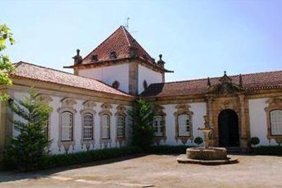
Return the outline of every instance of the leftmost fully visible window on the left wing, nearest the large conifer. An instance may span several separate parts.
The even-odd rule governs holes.
[[[71,141],[73,140],[73,113],[63,112],[61,118],[61,140]]]

